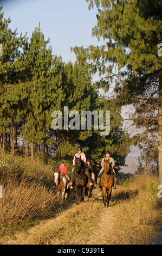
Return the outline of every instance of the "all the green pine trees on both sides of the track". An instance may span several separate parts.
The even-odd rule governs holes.
[[[93,36],[105,45],[75,46],[76,61],[64,63],[54,56],[40,25],[30,40],[17,38],[0,9],[0,153],[52,156],[72,161],[80,145],[86,156],[100,163],[111,151],[116,170],[125,165],[132,144],[139,145],[146,162],[158,162],[162,184],[161,0],[86,0],[98,8]],[[49,35],[50,36],[50,35]],[[99,72],[100,81],[93,83]],[[109,92],[110,86],[114,90]],[[99,89],[106,96],[100,95]],[[122,128],[121,108],[132,105],[130,115],[138,128],[133,137]],[[53,130],[55,110],[106,111],[111,131]]]

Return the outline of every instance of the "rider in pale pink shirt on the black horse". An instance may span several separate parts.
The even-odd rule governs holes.
[[[88,172],[88,169],[86,167],[86,156],[84,153],[82,153],[82,147],[77,147],[77,153],[75,154],[76,157],[81,157],[81,160],[83,161],[83,169],[85,170],[87,176],[88,176],[88,182],[89,182],[89,185],[92,186],[93,183],[91,182],[91,178],[90,178],[90,174]],[[75,156],[74,156],[74,159],[73,159],[73,164],[75,166]],[[73,178],[74,178],[74,173],[75,173],[75,167],[73,168],[72,170],[72,175],[71,175],[71,182],[70,182],[70,186],[72,186],[73,184]]]

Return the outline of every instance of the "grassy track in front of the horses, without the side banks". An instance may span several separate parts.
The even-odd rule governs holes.
[[[115,205],[104,208],[101,191],[94,189],[93,197],[79,205],[64,205],[55,218],[41,221],[25,232],[17,232],[5,237],[1,244],[111,244],[114,230]],[[111,203],[112,204],[112,203]],[[96,235],[97,234],[97,235]]]

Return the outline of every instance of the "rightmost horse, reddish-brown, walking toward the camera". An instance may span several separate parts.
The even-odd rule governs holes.
[[[107,202],[107,207],[109,205],[109,200],[111,200],[111,194],[112,194],[112,187],[114,183],[113,179],[113,174],[112,174],[112,168],[111,164],[108,161],[104,159],[104,173],[102,174],[101,177],[101,182],[100,182],[100,187],[102,191],[102,198],[103,198],[103,204],[106,207],[106,202]],[[107,192],[107,196],[106,196]]]

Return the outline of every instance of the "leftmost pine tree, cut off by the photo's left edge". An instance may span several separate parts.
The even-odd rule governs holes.
[[[2,7],[0,7],[0,12]],[[11,134],[11,150],[14,150],[15,125],[20,120],[20,107],[18,107],[18,97],[15,90],[18,83],[18,74],[22,72],[23,66],[19,65],[19,60],[23,56],[23,48],[27,44],[25,35],[17,38],[9,28],[10,18],[3,18],[0,13],[0,44],[2,45],[2,56],[0,56],[0,131],[3,145],[1,145],[3,155],[5,141],[4,138]],[[10,136],[9,136],[10,138]]]

